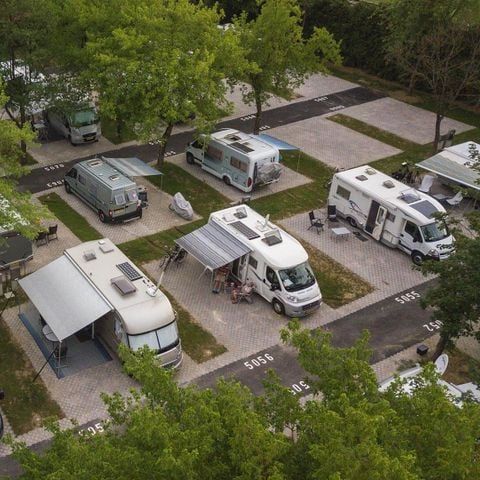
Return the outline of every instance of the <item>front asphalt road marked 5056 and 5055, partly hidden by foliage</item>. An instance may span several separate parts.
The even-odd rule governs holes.
[[[333,345],[351,346],[363,330],[368,330],[373,350],[371,363],[376,363],[422,342],[438,328],[429,324],[430,312],[423,310],[419,304],[419,298],[434,281],[392,295],[328,324],[326,329],[332,333]],[[213,387],[220,377],[234,378],[260,395],[269,369],[275,370],[282,383],[290,386],[295,393],[308,393],[308,388],[304,385],[305,371],[297,362],[296,352],[284,345],[276,345],[251,358],[233,362],[197,378],[195,383],[200,388],[207,388]]]

